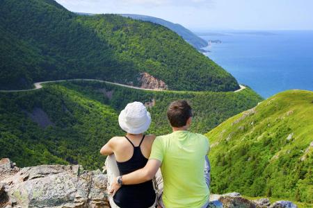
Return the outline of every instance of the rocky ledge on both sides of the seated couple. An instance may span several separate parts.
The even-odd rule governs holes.
[[[0,207],[110,207],[107,176],[79,165],[18,168],[0,160]],[[288,201],[248,200],[239,193],[211,195],[209,207],[290,207]]]

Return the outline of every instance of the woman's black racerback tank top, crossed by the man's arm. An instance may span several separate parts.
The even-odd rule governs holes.
[[[143,139],[141,139],[139,146],[134,146],[126,136],[125,138],[134,147],[134,154],[131,159],[126,162],[116,162],[118,164],[120,175],[125,175],[143,168],[148,161],[148,159],[143,156],[143,153],[141,153],[141,143],[143,143],[145,135],[143,135]],[[113,196],[115,204],[121,208],[151,207],[155,202],[155,198],[156,195],[152,180],[142,184],[122,185],[122,187],[120,187],[115,193],[115,196]]]

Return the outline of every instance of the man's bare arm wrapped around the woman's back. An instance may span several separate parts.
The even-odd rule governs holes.
[[[130,184],[141,184],[148,180],[152,180],[154,175],[157,173],[161,166],[161,161],[159,159],[149,159],[145,167],[138,169],[132,173],[127,175],[122,175],[122,184],[130,185]],[[120,189],[120,185],[118,184],[118,180],[115,179],[112,182],[110,193],[115,194],[116,191]]]

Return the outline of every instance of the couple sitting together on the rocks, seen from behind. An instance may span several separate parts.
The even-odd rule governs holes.
[[[172,133],[156,138],[143,134],[151,123],[143,103],[129,103],[120,113],[118,121],[127,135],[113,137],[100,150],[111,155],[106,160],[111,207],[202,208],[209,204],[209,141],[188,131],[193,115],[186,101],[171,103],[167,116]]]

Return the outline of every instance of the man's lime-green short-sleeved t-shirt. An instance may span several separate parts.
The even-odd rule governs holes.
[[[154,140],[150,159],[162,162],[162,199],[166,207],[197,208],[209,200],[204,179],[204,157],[208,152],[207,137],[184,130]]]

